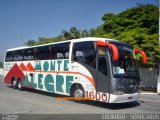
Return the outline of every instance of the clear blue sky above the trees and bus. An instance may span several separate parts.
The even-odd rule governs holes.
[[[75,26],[101,25],[105,13],[118,14],[137,4],[158,0],[0,0],[0,62],[5,50],[38,37],[55,37]]]

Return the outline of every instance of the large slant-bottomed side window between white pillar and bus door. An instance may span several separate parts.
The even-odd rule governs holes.
[[[96,67],[96,45],[92,41],[74,44],[72,60],[87,63]]]

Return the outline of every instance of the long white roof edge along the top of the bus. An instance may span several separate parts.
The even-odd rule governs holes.
[[[86,37],[86,38],[78,38],[78,39],[72,39],[72,40],[65,40],[65,41],[61,41],[61,42],[41,44],[41,45],[36,45],[36,46],[16,47],[16,48],[8,49],[8,50],[6,50],[6,51],[21,50],[21,49],[27,49],[27,48],[35,48],[35,47],[40,47],[40,46],[47,46],[47,45],[58,44],[58,43],[65,43],[65,42],[71,42],[71,41],[72,41],[72,42],[81,42],[81,41],[97,41],[97,40],[108,41],[108,42],[123,43],[123,42],[120,42],[119,40],[109,39],[109,38]]]

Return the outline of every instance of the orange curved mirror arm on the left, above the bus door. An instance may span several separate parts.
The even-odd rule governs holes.
[[[97,46],[109,47],[112,50],[112,53],[113,53],[112,59],[114,61],[118,61],[118,57],[119,56],[118,56],[118,48],[117,48],[117,46],[115,46],[112,43],[104,42],[104,41],[101,41],[101,40],[97,41]]]

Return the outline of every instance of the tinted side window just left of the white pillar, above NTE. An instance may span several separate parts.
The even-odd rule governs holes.
[[[59,43],[50,46],[51,59],[68,59],[70,43]]]

